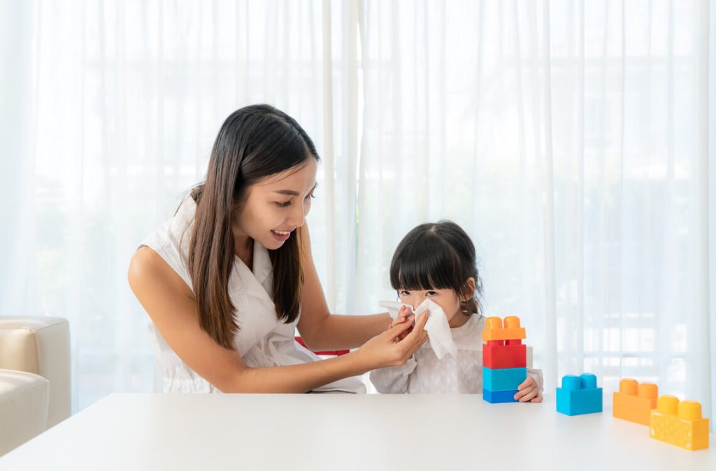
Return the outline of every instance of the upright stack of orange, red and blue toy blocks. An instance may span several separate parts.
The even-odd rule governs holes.
[[[483,331],[483,399],[516,402],[517,387],[527,379],[525,329],[517,316],[488,317]]]

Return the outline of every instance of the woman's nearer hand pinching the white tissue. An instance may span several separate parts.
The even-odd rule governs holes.
[[[391,324],[390,329],[374,336],[356,351],[366,369],[403,365],[425,344],[427,332],[424,328],[427,315],[420,316],[420,321],[415,325],[412,324],[412,319],[411,314],[399,324]]]

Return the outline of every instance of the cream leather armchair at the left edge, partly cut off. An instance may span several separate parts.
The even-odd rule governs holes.
[[[0,455],[70,416],[70,381],[67,320],[0,316]]]

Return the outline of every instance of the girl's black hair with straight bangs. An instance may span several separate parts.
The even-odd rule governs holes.
[[[475,279],[470,293],[469,278]],[[390,284],[397,291],[452,289],[463,313],[480,313],[483,283],[470,236],[450,220],[425,223],[400,241],[390,263]]]

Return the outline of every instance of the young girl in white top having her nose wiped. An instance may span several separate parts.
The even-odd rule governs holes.
[[[432,306],[430,316],[444,313],[456,349],[452,349],[454,354],[443,354],[446,349],[442,345],[436,349],[431,344],[435,339],[428,325],[430,340],[405,365],[371,372],[371,382],[378,392],[481,393],[485,318],[478,303],[482,283],[475,246],[468,234],[448,220],[418,225],[395,249],[390,284],[398,291],[400,302],[413,309],[418,309],[425,299],[434,302],[428,303]],[[407,320],[412,320],[412,314],[403,306],[390,328]],[[528,369],[515,399],[541,402],[541,391],[541,372]]]

